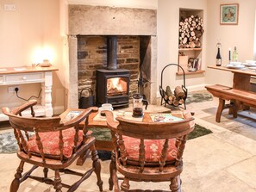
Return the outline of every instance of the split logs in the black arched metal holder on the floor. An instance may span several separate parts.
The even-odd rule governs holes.
[[[178,107],[178,105],[184,103],[186,95],[184,90],[180,86],[177,86],[173,92],[170,86],[167,86],[166,90],[164,91],[164,99],[165,102],[169,105],[174,105],[175,107]]]

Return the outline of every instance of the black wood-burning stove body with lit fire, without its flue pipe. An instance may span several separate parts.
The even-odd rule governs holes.
[[[128,70],[97,70],[97,106],[108,102],[113,107],[128,107],[129,81]]]

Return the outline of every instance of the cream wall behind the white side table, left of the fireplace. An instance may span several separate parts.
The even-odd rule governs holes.
[[[15,11],[3,10],[4,4],[16,4]],[[37,48],[50,47],[53,51],[52,64],[59,68],[53,72],[54,112],[63,110],[64,75],[62,63],[62,38],[59,32],[59,0],[1,0],[0,1],[0,68],[26,66],[34,62]],[[38,57],[37,57],[38,58]],[[28,98],[37,96],[41,84],[22,85],[20,95]],[[12,106],[22,100],[0,86],[1,106]]]

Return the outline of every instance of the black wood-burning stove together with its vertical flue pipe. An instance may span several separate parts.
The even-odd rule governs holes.
[[[97,106],[111,103],[113,107],[128,107],[130,73],[117,69],[116,35],[107,39],[107,70],[97,70]]]

